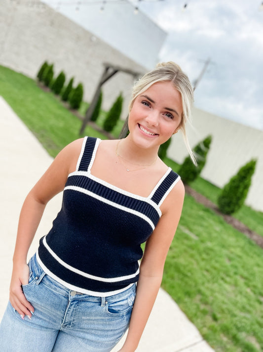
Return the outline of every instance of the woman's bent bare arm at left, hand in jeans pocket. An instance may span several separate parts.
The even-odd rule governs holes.
[[[34,307],[23,294],[21,285],[28,283],[29,267],[27,253],[33,241],[46,203],[61,192],[68,174],[75,168],[82,140],[77,140],[65,147],[52,162],[50,167],[30,191],[21,209],[15,251],[13,271],[10,283],[10,302],[21,317],[28,315]]]

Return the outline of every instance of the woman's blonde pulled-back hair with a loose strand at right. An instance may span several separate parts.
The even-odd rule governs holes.
[[[161,81],[172,82],[175,89],[181,93],[183,114],[180,123],[180,129],[183,133],[185,145],[188,153],[192,159],[192,162],[196,165],[194,154],[190,148],[188,137],[186,134],[186,123],[191,121],[191,108],[193,104],[193,88],[189,81],[187,74],[185,74],[181,67],[173,61],[161,62],[156,67],[146,73],[139,81],[137,81],[133,87],[132,98],[129,103],[129,111],[133,106],[134,100],[143,92],[145,92],[151,85]]]

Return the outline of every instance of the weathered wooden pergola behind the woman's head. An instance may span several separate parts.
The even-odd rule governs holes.
[[[81,128],[79,130],[80,135],[84,132],[84,129],[85,129],[87,123],[91,119],[91,116],[93,114],[93,111],[96,107],[96,104],[97,104],[99,96],[100,96],[101,87],[104,85],[105,82],[107,82],[110,78],[112,78],[119,71],[128,73],[129,75],[132,75],[134,77],[134,79],[138,79],[142,75],[140,72],[136,72],[136,71],[130,70],[129,68],[125,68],[125,67],[115,66],[111,63],[105,62],[105,63],[103,63],[103,66],[104,66],[103,74],[99,80],[96,91],[95,91],[94,96],[92,98],[92,101],[86,111]],[[126,121],[123,125],[123,128],[121,130],[121,133],[120,133],[120,138],[122,138],[123,136],[126,136],[127,131],[128,131],[128,121],[126,119]]]

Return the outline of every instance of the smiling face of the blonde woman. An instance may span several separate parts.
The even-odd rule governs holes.
[[[144,148],[159,147],[178,129],[183,114],[181,94],[172,82],[157,82],[134,100],[129,131]]]

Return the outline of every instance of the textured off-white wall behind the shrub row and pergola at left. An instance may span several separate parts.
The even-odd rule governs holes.
[[[0,0],[0,64],[35,78],[40,65],[54,63],[55,75],[61,70],[75,86],[84,85],[84,100],[90,101],[104,70],[103,62],[129,68],[142,74],[147,69],[120,53],[93,33],[77,25],[46,4],[30,6],[30,1]],[[40,6],[41,5],[41,6]],[[103,86],[103,108],[109,109],[120,92],[128,113],[133,77],[118,72]]]

